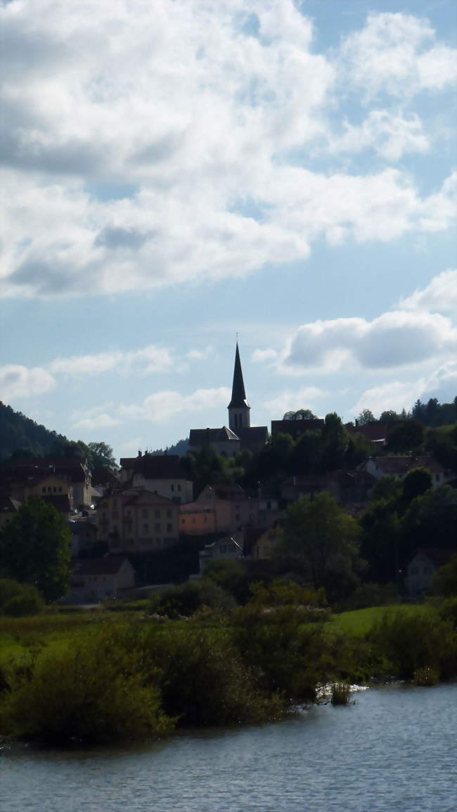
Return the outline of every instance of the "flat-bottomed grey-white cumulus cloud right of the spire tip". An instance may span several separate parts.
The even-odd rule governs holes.
[[[368,322],[337,318],[302,325],[282,356],[282,371],[329,373],[344,366],[382,369],[420,364],[455,351],[457,331],[438,313],[392,311]]]

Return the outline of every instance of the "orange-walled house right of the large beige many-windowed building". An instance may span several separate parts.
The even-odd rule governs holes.
[[[239,485],[207,485],[194,502],[181,505],[179,531],[190,535],[236,533],[257,524],[258,499]]]

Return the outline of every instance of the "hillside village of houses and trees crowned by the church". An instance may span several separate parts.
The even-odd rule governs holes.
[[[419,421],[387,412],[343,425],[300,410],[268,430],[251,425],[250,411],[237,344],[228,425],[191,429],[182,457],[140,450],[117,470],[66,456],[6,461],[0,526],[31,497],[51,504],[71,529],[67,601],[97,603],[201,577],[210,561],[268,562],[287,508],[303,496],[327,493],[360,518],[382,477],[403,482],[425,469],[433,489],[455,486],[451,456]],[[436,540],[429,548],[399,562],[412,594],[446,559]]]

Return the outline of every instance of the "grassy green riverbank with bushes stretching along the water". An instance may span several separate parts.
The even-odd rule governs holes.
[[[62,745],[148,739],[281,719],[317,702],[326,683],[455,676],[457,635],[437,608],[324,616],[251,605],[166,622],[134,612],[2,618],[12,647],[0,671],[0,735]]]

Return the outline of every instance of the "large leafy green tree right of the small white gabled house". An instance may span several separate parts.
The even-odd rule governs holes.
[[[302,496],[287,508],[279,551],[304,564],[314,589],[323,586],[331,600],[356,585],[359,534],[357,521],[330,494]]]

